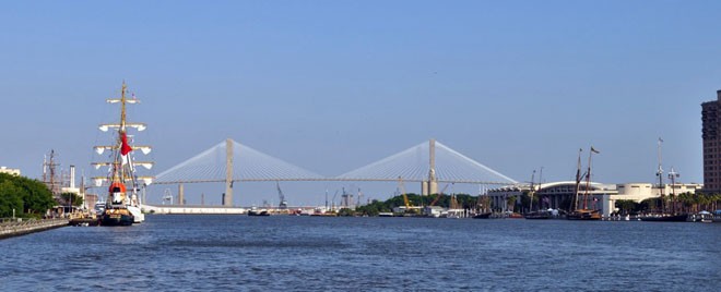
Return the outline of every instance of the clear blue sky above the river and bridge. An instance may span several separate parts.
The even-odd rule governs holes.
[[[702,182],[700,104],[721,89],[718,1],[0,5],[0,166],[31,178],[50,149],[95,174],[97,124],[118,114],[105,99],[126,81],[155,173],[227,137],[329,177],[436,138],[517,181],[571,180],[592,145],[594,181],[652,182],[663,137],[664,169]],[[277,202],[274,183],[244,187],[238,205]],[[283,184],[291,204],[341,187],[397,186]]]

